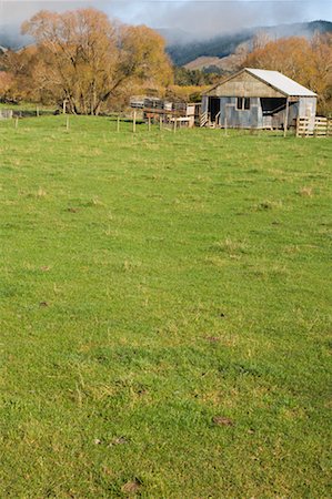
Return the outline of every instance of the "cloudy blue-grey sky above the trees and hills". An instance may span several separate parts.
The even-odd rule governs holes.
[[[124,22],[180,29],[200,37],[256,26],[332,21],[332,0],[0,0],[0,24],[19,24],[41,9],[61,11],[83,6]]]

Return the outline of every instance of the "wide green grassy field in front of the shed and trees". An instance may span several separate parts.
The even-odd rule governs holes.
[[[0,151],[0,497],[331,497],[331,140],[52,116]]]

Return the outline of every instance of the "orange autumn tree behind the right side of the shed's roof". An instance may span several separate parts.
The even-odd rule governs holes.
[[[254,49],[243,67],[275,70],[319,95],[319,112],[332,111],[332,35],[316,34],[312,40],[291,37],[270,41]]]

